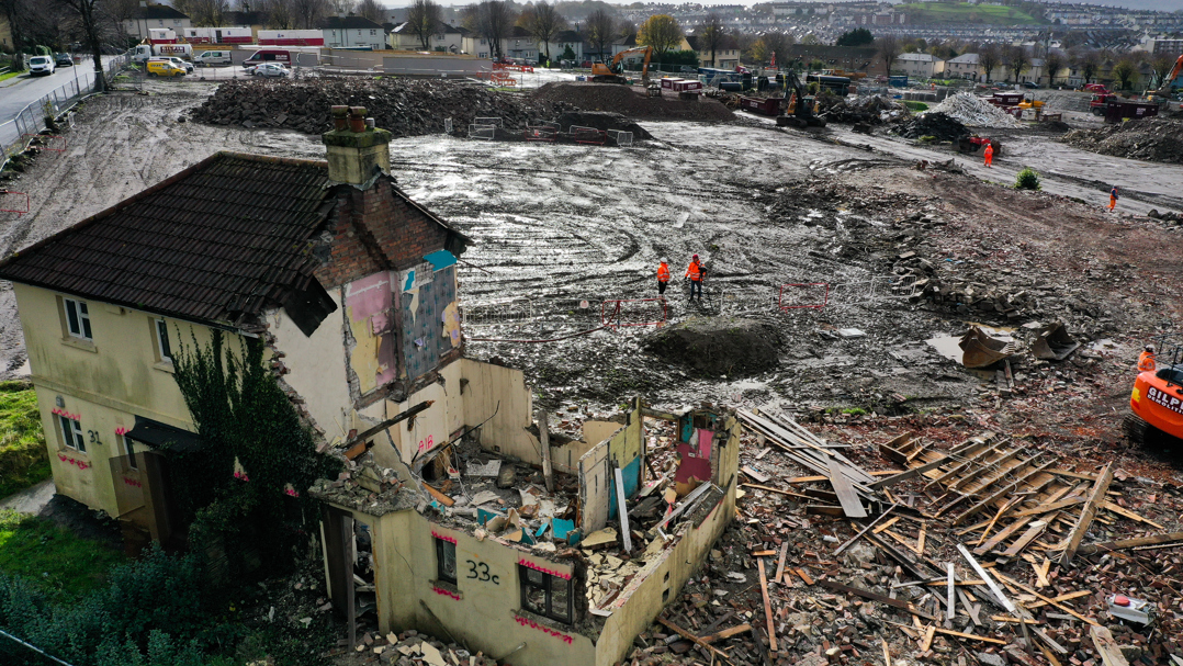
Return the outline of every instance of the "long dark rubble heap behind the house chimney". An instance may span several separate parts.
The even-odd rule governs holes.
[[[444,131],[444,121],[465,128],[477,117],[499,117],[506,129],[549,121],[570,104],[510,95],[463,82],[406,78],[322,77],[304,80],[230,80],[192,112],[198,122],[245,128],[284,128],[304,134],[332,129],[329,108],[364,106],[395,137]]]

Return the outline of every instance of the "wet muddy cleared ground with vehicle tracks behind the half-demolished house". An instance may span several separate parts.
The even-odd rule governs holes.
[[[177,122],[208,95],[203,84],[146,89],[167,95],[92,99],[66,151],[39,157],[7,186],[27,192],[32,211],[0,213],[0,251],[215,150],[323,156],[316,137]],[[742,114],[642,124],[654,138],[634,148],[442,135],[392,143],[402,187],[477,240],[460,270],[468,354],[523,368],[539,401],[563,415],[555,427],[574,431],[584,415],[641,394],[658,407],[781,407],[820,422],[826,437],[858,440],[856,459],[874,457],[871,444],[901,427],[958,437],[998,428],[1183,481],[1174,459],[1131,450],[1118,428],[1137,349],[1183,318],[1179,227],[1142,216],[1183,211],[1183,167],[1084,153],[1046,131],[1008,134],[1006,155],[988,170],[950,147],[841,127],[786,130]],[[913,168],[949,159],[965,173]],[[1009,188],[1024,166],[1043,174],[1045,192]],[[1110,214],[1103,203],[1114,182],[1125,198]],[[692,253],[709,270],[700,305],[685,300],[678,279]],[[661,257],[674,285],[665,304],[642,300],[657,296]],[[1007,313],[910,298],[917,271],[1022,306]],[[814,286],[791,286],[802,284]],[[774,328],[775,369],[704,375],[645,351],[654,322],[704,316]],[[608,321],[648,325],[603,328]],[[1023,324],[1055,321],[1085,347],[1061,363],[1016,358],[1010,396],[993,375],[969,373],[925,342],[971,322],[1022,340]],[[552,338],[565,340],[534,342]],[[0,367],[12,375],[24,362],[5,285]]]

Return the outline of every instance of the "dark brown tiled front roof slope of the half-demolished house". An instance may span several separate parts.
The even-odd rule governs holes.
[[[218,153],[0,263],[0,278],[239,323],[311,285],[328,164]]]

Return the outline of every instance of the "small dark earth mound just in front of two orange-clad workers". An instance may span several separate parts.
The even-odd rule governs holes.
[[[768,323],[694,317],[658,330],[645,341],[645,349],[706,375],[735,377],[775,368],[777,343],[776,329]]]

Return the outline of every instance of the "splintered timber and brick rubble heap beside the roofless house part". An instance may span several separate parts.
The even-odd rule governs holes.
[[[1026,438],[826,438],[739,413],[739,528],[633,664],[1164,664],[1179,489]],[[883,418],[880,418],[880,423]],[[871,468],[871,467],[875,468]],[[738,532],[738,534],[736,534]],[[690,657],[678,662],[691,662]]]

